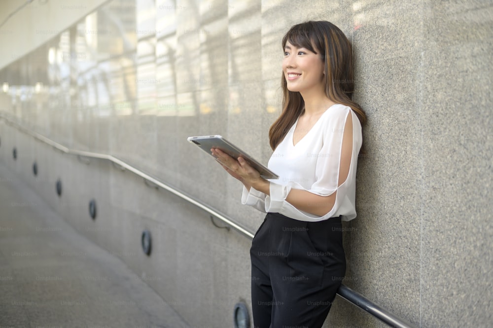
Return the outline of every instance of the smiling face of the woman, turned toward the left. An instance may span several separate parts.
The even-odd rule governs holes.
[[[282,71],[289,91],[306,93],[322,91],[324,63],[319,54],[286,42]]]

